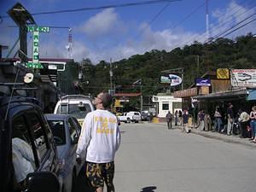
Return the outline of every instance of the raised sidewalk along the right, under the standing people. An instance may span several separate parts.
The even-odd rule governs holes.
[[[166,122],[160,122],[160,123],[155,123],[155,124],[166,126],[166,129],[167,129]],[[181,129],[182,127],[172,125],[172,129],[173,128],[174,129]],[[239,135],[238,136],[236,136],[236,135],[228,136],[228,135],[225,135],[225,134],[220,134],[218,132],[199,131],[198,129],[194,129],[194,128],[191,129],[190,133],[200,135],[200,136],[203,136],[203,137],[209,137],[209,138],[212,138],[212,139],[221,140],[221,141],[224,141],[226,143],[237,143],[237,144],[242,144],[242,145],[245,145],[245,146],[248,146],[248,147],[251,147],[251,148],[256,148],[256,143],[251,143],[251,141],[249,141],[249,138],[240,138]]]

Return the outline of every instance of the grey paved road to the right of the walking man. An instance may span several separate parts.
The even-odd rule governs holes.
[[[256,148],[147,122],[121,131],[117,192],[256,191]]]

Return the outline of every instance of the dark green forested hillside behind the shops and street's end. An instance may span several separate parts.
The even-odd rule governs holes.
[[[93,95],[100,90],[110,89],[109,61],[101,61],[93,65],[90,59],[85,59],[77,63],[77,66],[77,73],[79,70],[83,73],[79,85],[84,94]],[[169,85],[160,84],[163,70],[183,68],[185,89],[196,77],[219,67],[255,68],[256,38],[253,34],[234,40],[218,38],[207,44],[195,42],[183,48],[172,49],[170,52],[153,49],[144,55],[132,55],[129,59],[112,63],[112,83],[116,92],[139,92],[139,85],[131,85],[142,79],[143,95],[149,96],[169,89]],[[71,72],[65,72],[66,78],[72,78],[68,73]]]

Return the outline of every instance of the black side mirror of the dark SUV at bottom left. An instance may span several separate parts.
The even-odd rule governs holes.
[[[59,192],[58,177],[53,172],[32,172],[26,176],[28,192]]]

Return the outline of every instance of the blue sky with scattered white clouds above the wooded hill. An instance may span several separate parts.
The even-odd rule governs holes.
[[[40,57],[44,58],[68,58],[68,28],[72,28],[72,57],[75,61],[90,58],[94,63],[110,58],[119,61],[151,49],[170,51],[195,40],[206,41],[206,0],[116,6],[151,1],[154,0],[20,0],[20,3],[32,14],[38,26],[54,26],[50,27],[49,33],[40,34]],[[15,3],[0,0],[0,44],[9,45],[9,49],[18,38],[18,28],[7,15]],[[108,5],[115,6],[100,9]],[[226,35],[226,38],[235,39],[248,32],[254,34],[255,6],[255,0],[208,0],[210,38]],[[96,9],[78,10],[86,8]],[[73,9],[77,11],[42,14]],[[56,28],[59,26],[64,28]],[[32,34],[28,33],[29,55],[31,44]],[[3,51],[3,56],[9,49]]]

